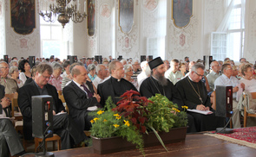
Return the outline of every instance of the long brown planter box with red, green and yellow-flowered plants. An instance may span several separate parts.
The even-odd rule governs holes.
[[[183,131],[174,129],[176,132],[182,132],[183,136],[175,138],[175,135],[167,135],[173,136],[173,139],[168,138],[167,143],[184,141],[186,137],[186,113],[178,110],[176,104],[160,94],[148,99],[140,97],[137,91],[127,91],[121,96],[117,106],[113,104],[111,97],[108,97],[104,111],[97,110],[94,116],[90,131],[95,153],[98,154],[127,150],[135,148],[135,145],[144,154],[144,144],[152,146],[159,141],[165,148],[161,140],[162,132],[169,132],[173,127],[183,127]],[[111,144],[114,145],[112,149]]]

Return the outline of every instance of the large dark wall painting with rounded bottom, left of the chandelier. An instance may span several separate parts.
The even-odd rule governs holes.
[[[29,35],[36,28],[35,0],[10,0],[10,26],[17,34]]]

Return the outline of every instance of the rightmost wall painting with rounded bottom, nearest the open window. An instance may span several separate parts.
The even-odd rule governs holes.
[[[172,19],[178,28],[186,27],[193,16],[193,0],[173,0]]]

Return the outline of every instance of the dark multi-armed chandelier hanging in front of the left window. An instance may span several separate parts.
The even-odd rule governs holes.
[[[82,22],[86,18],[86,2],[84,2],[84,13],[80,13],[79,0],[40,0],[39,15],[43,17],[45,22],[65,24],[71,19],[73,22]]]

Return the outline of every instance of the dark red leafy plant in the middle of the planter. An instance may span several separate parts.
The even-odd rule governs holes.
[[[146,132],[146,122],[148,122],[148,103],[153,103],[147,97],[141,97],[138,91],[127,91],[121,95],[121,100],[117,106],[112,109],[118,111],[121,116],[127,117],[134,123],[135,127],[141,131]]]

